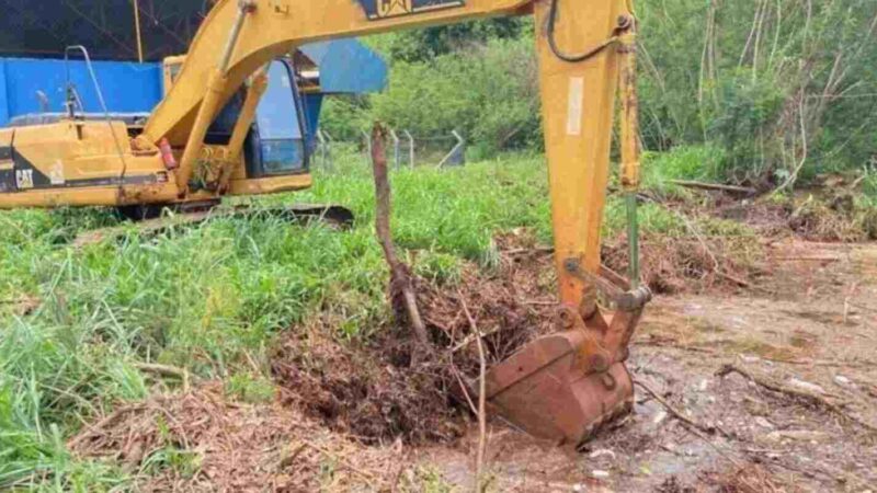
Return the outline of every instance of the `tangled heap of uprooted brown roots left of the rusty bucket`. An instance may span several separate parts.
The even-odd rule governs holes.
[[[511,252],[511,253],[510,253]],[[536,256],[533,262],[524,257]],[[466,428],[469,403],[462,389],[478,376],[475,333],[463,303],[485,334],[489,365],[511,356],[550,330],[547,257],[537,251],[500,249],[490,273],[466,264],[459,283],[419,279],[419,303],[434,352],[412,364],[406,328],[391,324],[367,342],[340,342],[327,331],[339,322],[317,316],[284,339],[272,369],[283,401],[330,428],[366,443],[447,443]]]

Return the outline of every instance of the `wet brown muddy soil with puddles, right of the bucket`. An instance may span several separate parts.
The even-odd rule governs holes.
[[[659,297],[633,347],[647,392],[635,414],[581,454],[503,427],[490,449],[496,491],[856,491],[877,484],[877,245],[786,240],[770,245],[754,289]],[[755,385],[805,389],[813,405]],[[639,389],[638,389],[639,390]],[[471,484],[475,436],[423,451],[452,482]]]

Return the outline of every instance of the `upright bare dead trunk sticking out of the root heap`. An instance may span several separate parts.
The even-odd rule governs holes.
[[[384,152],[386,138],[387,129],[380,123],[376,123],[372,130],[372,164],[375,174],[375,230],[380,246],[384,249],[384,256],[390,267],[390,296],[394,305],[401,298],[401,302],[408,313],[411,330],[413,330],[420,345],[425,348],[430,346],[430,337],[418,309],[411,275],[408,266],[402,264],[396,255],[396,248],[392,244],[392,236],[390,233],[391,192],[387,173],[387,156]]]

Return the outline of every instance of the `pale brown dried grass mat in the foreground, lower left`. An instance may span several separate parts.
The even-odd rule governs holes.
[[[119,461],[140,478],[138,491],[389,490],[407,463],[398,447],[365,447],[294,408],[232,402],[221,388],[208,382],[123,405],[73,437],[71,449]],[[191,470],[156,468],[168,450],[193,457]]]

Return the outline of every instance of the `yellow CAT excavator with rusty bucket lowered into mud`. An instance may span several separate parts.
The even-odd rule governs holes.
[[[578,445],[631,409],[625,362],[651,298],[638,283],[629,0],[219,0],[185,57],[166,64],[170,90],[145,122],[82,117],[71,94],[67,114],[0,129],[0,208],[180,206],[308,187],[307,169],[272,169],[242,151],[272,60],[311,42],[523,14],[536,22],[560,305],[557,333],[491,368],[486,397],[528,433]],[[244,96],[230,137],[205,139],[236,94]],[[629,280],[600,261],[616,114]]]

